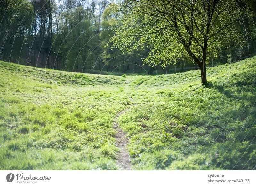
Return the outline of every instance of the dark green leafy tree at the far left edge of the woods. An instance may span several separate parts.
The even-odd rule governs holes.
[[[0,60],[20,62],[33,16],[28,0],[0,1]]]

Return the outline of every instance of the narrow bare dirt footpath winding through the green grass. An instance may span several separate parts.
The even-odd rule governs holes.
[[[131,105],[134,106],[136,104]],[[127,144],[129,142],[129,138],[126,137],[126,133],[119,127],[119,123],[117,122],[118,118],[127,112],[130,108],[127,108],[121,112],[119,112],[114,120],[113,128],[117,130],[116,133],[116,146],[120,149],[117,158],[117,165],[121,170],[131,170],[132,164],[130,162],[129,152],[127,151]]]

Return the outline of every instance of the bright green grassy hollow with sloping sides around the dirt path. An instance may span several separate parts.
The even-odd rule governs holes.
[[[0,169],[117,169],[116,114],[133,169],[255,169],[256,58],[159,76],[0,62]],[[254,141],[253,141],[254,140]]]

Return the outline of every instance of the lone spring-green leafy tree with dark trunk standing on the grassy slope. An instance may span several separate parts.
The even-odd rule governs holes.
[[[126,0],[113,5],[120,27],[111,41],[123,52],[147,43],[152,48],[145,62],[162,66],[188,55],[199,66],[202,84],[207,83],[206,60],[226,43],[244,46],[237,0]],[[145,48],[145,47],[144,47]]]

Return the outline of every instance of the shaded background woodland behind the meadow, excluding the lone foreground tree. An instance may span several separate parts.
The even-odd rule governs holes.
[[[150,47],[122,53],[113,48],[109,39],[114,35],[111,27],[118,27],[118,14],[112,13],[108,0],[2,0],[0,2],[0,60],[28,66],[58,70],[100,73],[153,74],[184,71],[197,68],[187,56],[176,59],[176,65],[165,67],[148,65]],[[255,4],[243,3],[239,7],[250,9],[255,15]],[[254,29],[250,19],[243,19],[238,29],[250,37],[249,50],[254,54]],[[245,35],[246,35],[245,34]],[[248,49],[230,51],[220,49],[221,63],[248,56]],[[246,53],[247,52],[247,53]],[[209,61],[209,65],[220,60]],[[161,73],[158,72],[158,73]]]

